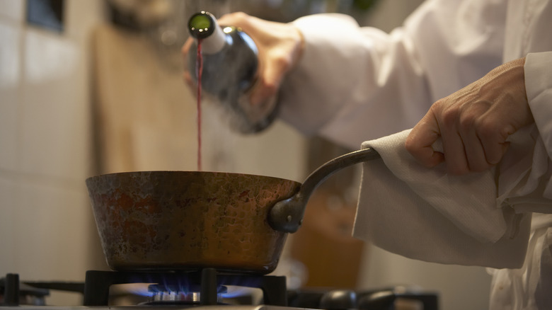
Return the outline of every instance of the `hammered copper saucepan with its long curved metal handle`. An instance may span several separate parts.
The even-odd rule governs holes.
[[[328,161],[303,184],[240,173],[139,171],[86,179],[98,233],[113,270],[265,274],[307,200],[341,168],[379,158],[363,149]]]

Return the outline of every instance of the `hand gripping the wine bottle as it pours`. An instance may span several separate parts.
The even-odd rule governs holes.
[[[246,13],[229,13],[218,20],[219,25],[233,25],[247,33],[258,47],[259,69],[255,85],[249,93],[249,102],[253,106],[262,105],[275,98],[284,76],[292,70],[303,50],[304,40],[294,25],[264,21]],[[188,39],[182,48],[184,59],[193,39]],[[195,87],[190,69],[184,72],[184,79]]]

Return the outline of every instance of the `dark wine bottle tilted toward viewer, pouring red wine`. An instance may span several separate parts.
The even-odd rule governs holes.
[[[231,125],[239,132],[259,132],[275,119],[275,100],[253,106],[247,94],[257,77],[258,49],[241,29],[221,27],[209,12],[195,13],[188,22],[195,44],[190,48],[188,66],[197,82],[197,45],[202,54],[201,87],[231,113]]]

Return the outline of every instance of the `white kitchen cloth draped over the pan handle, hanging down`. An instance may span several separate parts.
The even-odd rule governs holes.
[[[381,159],[363,163],[353,235],[408,258],[519,268],[529,239],[527,212],[551,205],[542,191],[530,194],[549,172],[536,128],[514,134],[500,173],[466,176],[449,176],[443,164],[421,166],[404,147],[409,132],[362,144]],[[541,166],[535,168],[535,159]]]

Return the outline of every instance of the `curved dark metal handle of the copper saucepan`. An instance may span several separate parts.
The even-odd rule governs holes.
[[[309,201],[309,197],[311,197],[314,190],[318,188],[318,185],[333,173],[345,167],[379,158],[381,158],[381,156],[379,156],[376,150],[368,148],[361,149],[360,151],[353,151],[324,163],[306,178],[295,195],[286,200],[276,202],[274,207],[270,209],[268,224],[270,224],[272,229],[277,231],[294,233],[299,229],[299,226],[301,226],[305,214],[306,202]]]

